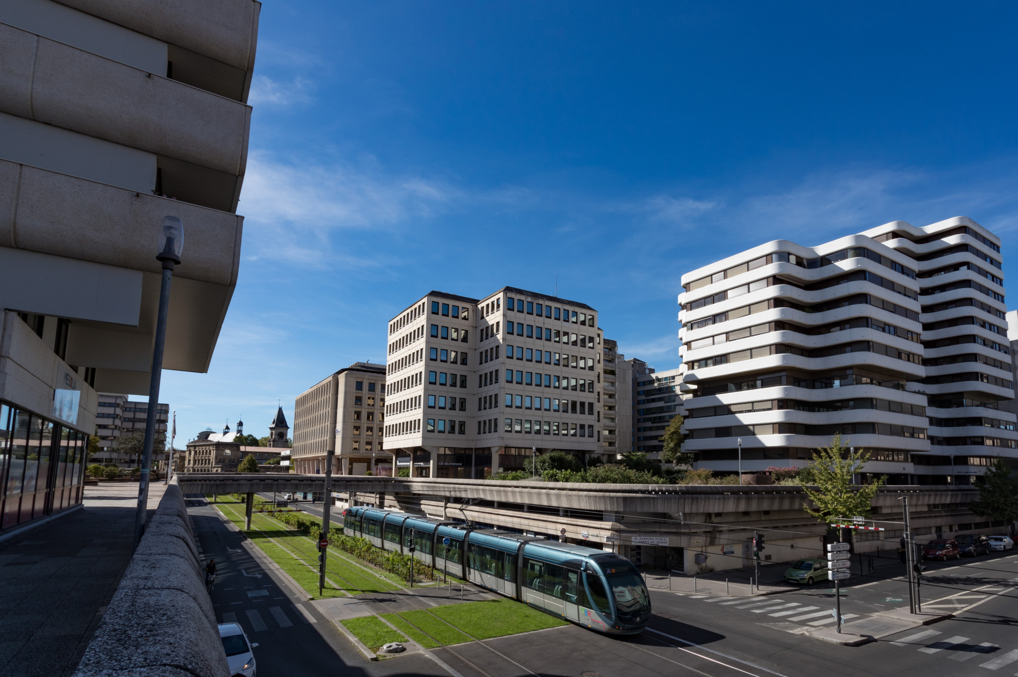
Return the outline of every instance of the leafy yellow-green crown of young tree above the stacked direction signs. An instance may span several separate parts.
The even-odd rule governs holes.
[[[813,452],[808,468],[816,489],[803,486],[802,490],[816,508],[803,503],[806,512],[828,524],[838,517],[869,516],[873,496],[884,484],[884,478],[861,486],[852,484],[852,475],[861,471],[867,460],[869,454],[862,449],[846,451],[841,435],[835,435],[830,446]]]

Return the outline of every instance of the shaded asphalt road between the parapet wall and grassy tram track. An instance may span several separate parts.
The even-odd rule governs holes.
[[[254,649],[259,677],[342,675],[449,677],[434,661],[420,656],[370,662],[326,620],[306,598],[299,597],[275,571],[263,567],[204,497],[188,497],[195,535],[205,561],[215,558],[212,593],[219,622],[237,621]]]

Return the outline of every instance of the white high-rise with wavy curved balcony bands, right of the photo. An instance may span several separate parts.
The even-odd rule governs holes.
[[[955,218],[776,240],[683,275],[685,450],[731,472],[741,449],[755,472],[804,466],[841,433],[892,484],[1014,463],[1000,266],[1000,240]]]

